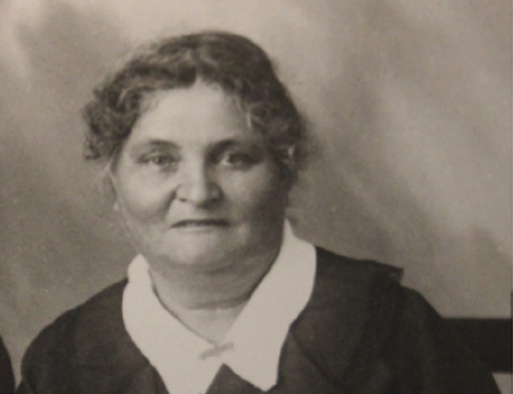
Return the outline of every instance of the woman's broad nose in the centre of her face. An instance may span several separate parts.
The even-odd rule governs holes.
[[[181,182],[176,187],[176,198],[195,206],[205,207],[218,201],[222,190],[215,177],[202,165],[184,169]]]

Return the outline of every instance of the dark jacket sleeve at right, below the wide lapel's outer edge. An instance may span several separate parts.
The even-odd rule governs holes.
[[[415,291],[404,289],[384,354],[400,393],[499,394],[491,373]]]

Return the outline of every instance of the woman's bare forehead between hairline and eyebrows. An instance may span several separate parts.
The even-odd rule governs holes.
[[[127,143],[170,141],[175,145],[259,139],[235,99],[218,86],[196,82],[191,88],[151,93]]]

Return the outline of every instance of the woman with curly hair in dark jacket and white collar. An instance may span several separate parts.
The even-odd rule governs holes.
[[[253,42],[162,40],[84,114],[139,254],[42,331],[19,393],[497,393],[395,269],[291,232],[304,123]]]

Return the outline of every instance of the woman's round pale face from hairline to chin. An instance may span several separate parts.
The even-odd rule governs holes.
[[[211,269],[276,251],[287,187],[233,98],[197,82],[146,104],[111,168],[134,247],[150,262]]]

